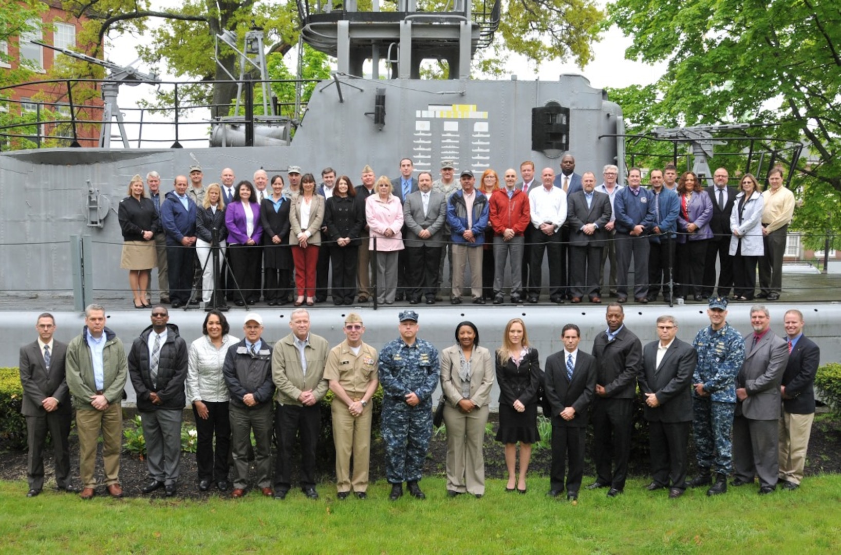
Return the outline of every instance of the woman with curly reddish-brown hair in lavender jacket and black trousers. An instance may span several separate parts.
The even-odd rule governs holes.
[[[703,300],[704,260],[706,246],[712,238],[710,219],[712,201],[701,190],[693,172],[684,172],[678,182],[678,244],[675,249],[678,297],[686,299],[690,293],[696,301]]]

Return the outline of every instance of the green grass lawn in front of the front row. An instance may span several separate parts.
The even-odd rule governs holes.
[[[584,484],[590,479],[584,478]],[[111,500],[45,489],[24,496],[24,482],[0,482],[0,552],[45,553],[656,553],[841,551],[841,476],[807,478],[801,489],[759,496],[731,488],[708,498],[701,489],[669,500],[663,490],[629,481],[625,494],[582,490],[579,503],[547,498],[548,478],[528,494],[505,493],[489,480],[483,499],[445,495],[443,478],[421,482],[427,499],[388,500],[389,484],[369,498],[321,500],[293,490],[285,501]],[[182,486],[184,487],[184,486]]]

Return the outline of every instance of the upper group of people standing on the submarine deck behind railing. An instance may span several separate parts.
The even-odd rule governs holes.
[[[544,257],[555,304],[600,303],[603,293],[620,303],[630,296],[649,303],[661,290],[667,303],[714,293],[748,301],[758,265],[755,296],[780,298],[795,201],[778,167],[762,192],[751,174],[740,177],[738,189],[729,187],[723,167],[707,188],[693,172],[679,178],[673,165],[651,170],[648,188],[638,168],[629,170],[623,187],[616,166],[608,165],[597,185],[594,172],[574,172],[569,154],[558,175],[547,167],[539,180],[532,161],[521,164],[519,177],[505,170],[501,181],[490,169],[479,176],[464,170],[457,181],[452,161],[441,166],[436,180],[430,172],[415,177],[409,158],[395,178],[376,178],[364,166],[356,187],[331,167],[316,185],[311,173],[288,166],[288,186],[262,169],[253,182],[235,185],[225,168],[221,183],[205,188],[202,168],[194,165],[162,197],[157,172],[146,176],[148,192],[136,175],[119,204],[121,267],[130,272],[135,307],[151,307],[152,267],[161,303],[173,308],[261,299],[312,306],[328,293],[336,305],[374,296],[379,304],[435,304],[443,299],[447,258],[452,304],[463,302],[468,267],[473,303],[504,303],[510,283],[511,303],[536,304]],[[212,299],[214,292],[220,299]]]

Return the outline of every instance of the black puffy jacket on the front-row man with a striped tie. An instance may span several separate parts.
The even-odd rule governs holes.
[[[149,336],[152,326],[143,330],[131,344],[129,352],[129,376],[137,394],[137,410],[148,412],[158,409],[182,410],[187,404],[184,380],[187,379],[187,342],[178,335],[178,326],[167,324],[167,341],[161,345],[158,358],[157,387],[152,385],[150,375]],[[161,404],[154,404],[149,397],[156,392]]]

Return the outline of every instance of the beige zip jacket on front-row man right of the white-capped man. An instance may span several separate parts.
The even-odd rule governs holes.
[[[301,367],[301,355],[295,346],[294,334],[289,334],[274,345],[272,352],[272,381],[278,388],[275,399],[280,404],[296,404],[300,394],[310,389],[315,400],[320,401],[327,393],[328,382],[324,378],[324,367],[330,344],[324,337],[309,334],[309,343],[304,348],[307,361],[307,375]]]

